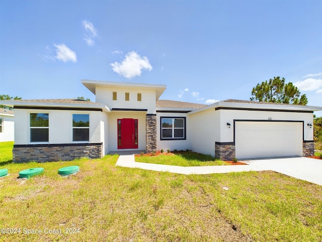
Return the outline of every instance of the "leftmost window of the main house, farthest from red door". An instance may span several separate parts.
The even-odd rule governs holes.
[[[30,113],[30,142],[49,141],[48,117],[48,113]]]

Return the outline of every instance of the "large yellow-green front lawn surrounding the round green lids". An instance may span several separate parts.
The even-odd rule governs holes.
[[[21,230],[0,234],[0,241],[322,239],[322,186],[272,171],[181,175],[116,167],[117,158],[3,161],[0,168],[10,175],[0,178],[0,228]],[[67,165],[79,165],[80,171],[58,175]],[[44,173],[17,178],[35,166]],[[23,229],[42,233],[27,235]]]

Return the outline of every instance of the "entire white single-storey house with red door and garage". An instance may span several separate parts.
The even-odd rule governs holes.
[[[223,160],[314,154],[322,107],[225,100],[159,100],[165,85],[82,80],[96,102],[10,100],[15,162],[99,158],[110,151],[186,150]]]

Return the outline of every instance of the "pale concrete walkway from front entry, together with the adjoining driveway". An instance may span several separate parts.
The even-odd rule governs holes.
[[[295,157],[244,161],[248,165],[175,166],[135,162],[134,155],[120,155],[116,166],[168,171],[178,174],[212,174],[240,171],[273,170],[322,186],[322,160]]]

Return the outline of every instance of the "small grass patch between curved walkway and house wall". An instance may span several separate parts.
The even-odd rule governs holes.
[[[228,165],[222,160],[215,160],[211,155],[204,155],[196,152],[178,152],[173,155],[166,153],[158,156],[136,156],[136,162],[178,165],[178,166],[207,166],[207,165]]]

